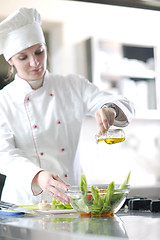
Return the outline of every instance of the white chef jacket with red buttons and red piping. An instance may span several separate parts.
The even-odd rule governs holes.
[[[7,176],[2,200],[39,203],[44,196],[39,189],[33,192],[32,180],[42,169],[77,184],[74,159],[84,116],[105,103],[114,103],[126,116],[114,125],[123,127],[132,119],[127,99],[99,91],[82,76],[47,71],[43,86],[33,90],[16,75],[0,91],[0,172]]]

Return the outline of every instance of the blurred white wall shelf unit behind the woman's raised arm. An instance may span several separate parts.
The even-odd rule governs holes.
[[[91,43],[93,83],[130,99],[136,119],[160,120],[157,47],[101,38]]]

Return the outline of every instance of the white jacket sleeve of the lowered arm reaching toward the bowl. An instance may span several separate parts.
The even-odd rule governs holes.
[[[32,180],[40,170],[21,149],[15,147],[14,135],[0,114],[0,172],[31,192]]]

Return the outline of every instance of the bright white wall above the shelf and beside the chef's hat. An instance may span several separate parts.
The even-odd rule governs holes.
[[[4,19],[19,7],[37,8],[42,17],[43,28],[48,29],[52,36],[56,34],[55,23],[61,24],[62,34],[53,37],[51,47],[55,39],[63,43],[63,50],[59,48],[59,54],[55,54],[54,61],[57,63],[57,71],[64,74],[75,71],[75,44],[91,36],[138,44],[160,43],[158,11],[67,0],[1,0],[0,19]],[[53,46],[52,54],[54,50]],[[65,65],[60,60],[64,60]]]

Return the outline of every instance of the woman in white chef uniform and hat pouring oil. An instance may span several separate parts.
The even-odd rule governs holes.
[[[0,23],[0,54],[16,69],[14,81],[0,91],[0,172],[7,176],[2,200],[37,204],[48,196],[69,203],[62,190],[80,179],[75,156],[85,115],[95,116],[103,133],[128,125],[132,103],[82,76],[49,73],[36,9],[18,9]]]

